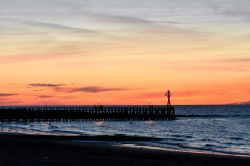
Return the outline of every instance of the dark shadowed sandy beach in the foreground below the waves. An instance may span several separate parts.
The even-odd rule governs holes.
[[[118,137],[74,137],[73,140],[110,140]],[[135,138],[123,137],[127,141]],[[130,140],[131,139],[131,140]],[[147,138],[137,138],[146,141]],[[108,143],[72,142],[72,137],[0,134],[0,166],[42,165],[164,165],[164,166],[241,166],[250,158],[168,152],[110,146]]]

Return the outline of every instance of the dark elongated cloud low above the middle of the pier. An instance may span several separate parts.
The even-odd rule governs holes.
[[[108,91],[126,91],[129,89],[126,88],[103,88],[98,86],[87,86],[80,88],[73,88],[70,92],[87,92],[87,93],[100,93],[100,92],[108,92]]]

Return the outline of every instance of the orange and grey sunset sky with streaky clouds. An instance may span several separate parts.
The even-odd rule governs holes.
[[[0,0],[0,105],[250,101],[249,0]]]

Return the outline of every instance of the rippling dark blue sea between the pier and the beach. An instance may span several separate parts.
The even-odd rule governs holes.
[[[60,136],[143,136],[159,139],[110,143],[250,157],[250,105],[175,106],[175,111],[178,117],[171,121],[4,121],[0,122],[0,132]]]

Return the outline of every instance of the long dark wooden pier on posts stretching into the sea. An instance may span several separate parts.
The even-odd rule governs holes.
[[[174,120],[174,107],[145,106],[21,106],[0,108],[1,121],[130,121]]]

